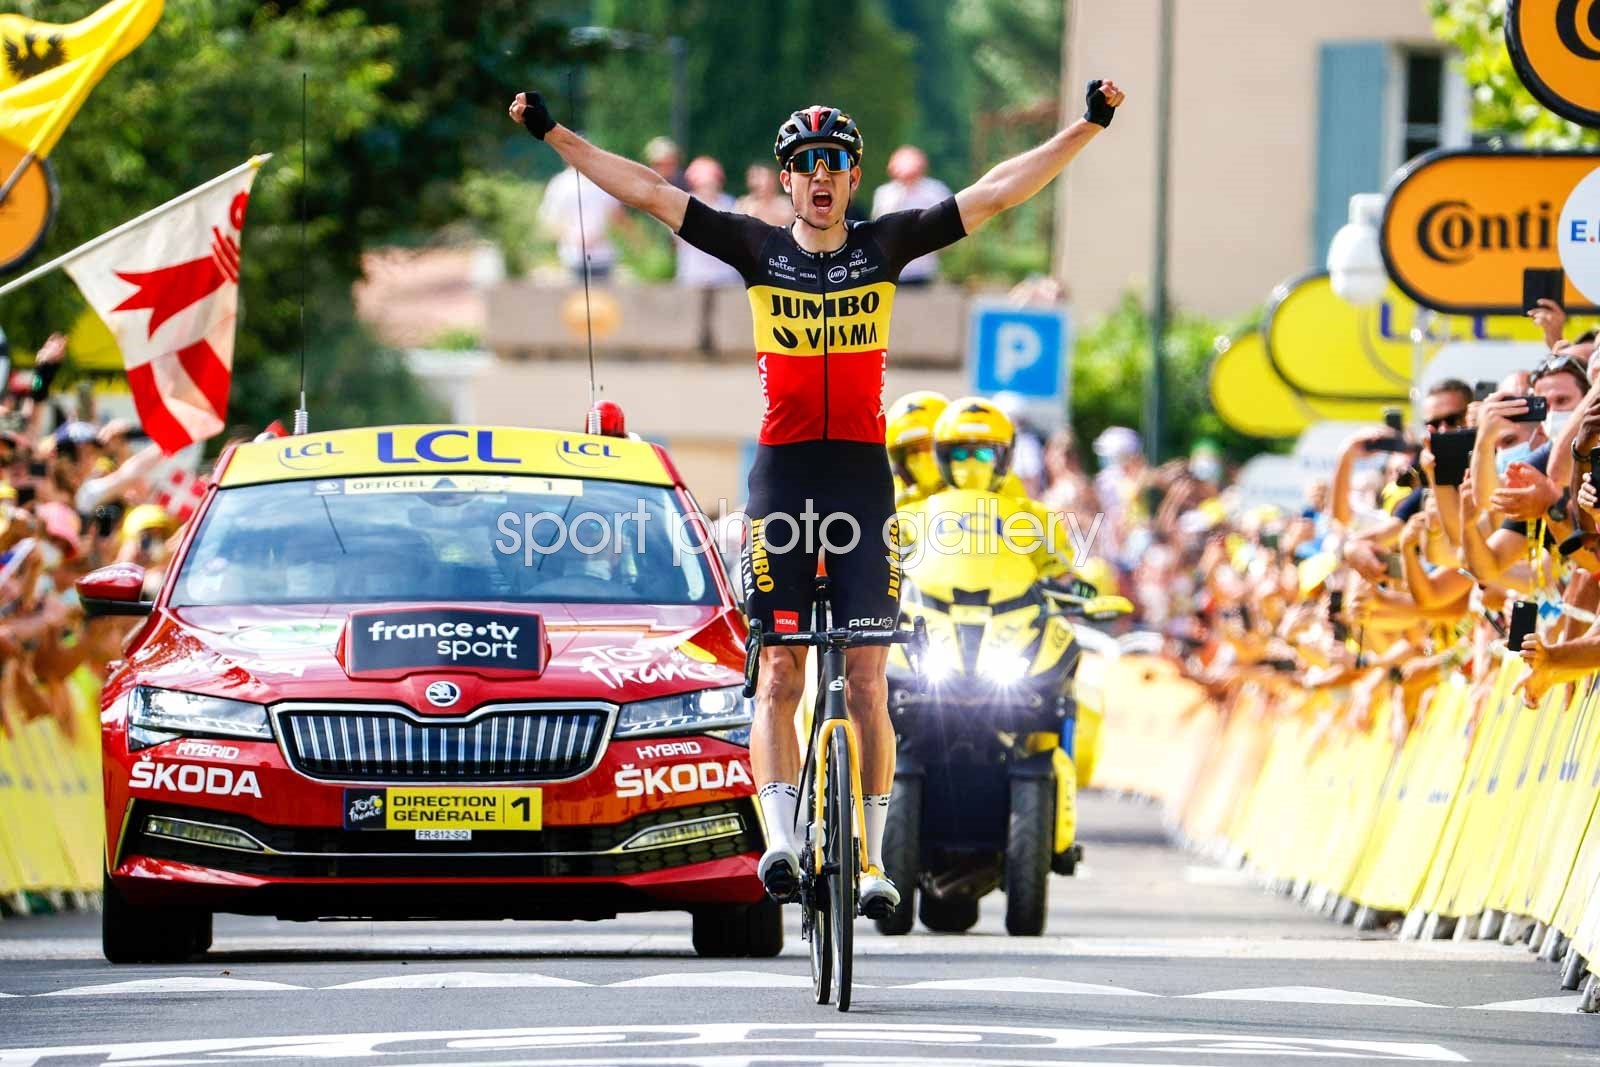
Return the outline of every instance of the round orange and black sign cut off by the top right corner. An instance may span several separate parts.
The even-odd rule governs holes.
[[[1600,130],[1600,0],[1510,0],[1506,48],[1534,99]]]

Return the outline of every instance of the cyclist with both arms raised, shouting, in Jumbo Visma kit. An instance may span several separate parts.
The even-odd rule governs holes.
[[[845,210],[861,184],[861,131],[837,107],[797,110],[773,146],[795,221],[776,227],[712,210],[643,163],[595,147],[558,125],[539,93],[512,101],[512,120],[573,170],[744,277],[766,398],[750,469],[744,589],[750,617],[768,632],[800,632],[824,549],[834,625],[894,625],[899,563],[894,483],[883,450],[883,363],[899,270],[1040,192],[1110,126],[1123,91],[1094,80],[1086,102],[1083,118],[949,200],[848,224]],[[894,784],[886,662],[888,648],[864,646],[846,653],[845,667],[846,707],[861,734],[869,865],[859,899],[869,917],[899,902],[882,869]],[[794,899],[800,878],[794,825],[802,753],[794,715],[803,689],[803,649],[762,649],[750,766],[768,838],[760,875],[779,901]]]

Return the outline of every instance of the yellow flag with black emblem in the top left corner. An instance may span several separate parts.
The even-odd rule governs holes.
[[[0,14],[0,138],[45,158],[112,64],[139,46],[163,0],[112,0],[77,22]]]

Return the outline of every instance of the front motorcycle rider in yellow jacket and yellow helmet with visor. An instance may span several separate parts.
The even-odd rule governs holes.
[[[910,499],[901,515],[901,537],[907,552],[922,537],[934,547],[947,536],[944,526],[974,517],[1003,537],[994,550],[1029,557],[1040,581],[1072,576],[1072,541],[1061,517],[1029,499],[1016,475],[1008,477],[1016,429],[995,405],[981,397],[952,400],[933,424],[933,454],[944,486]],[[1016,491],[1010,491],[1013,490]],[[966,541],[966,544],[976,544]]]

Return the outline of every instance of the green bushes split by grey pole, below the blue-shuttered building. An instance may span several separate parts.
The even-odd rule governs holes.
[[[1248,322],[1219,323],[1178,314],[1166,334],[1165,454],[1187,453],[1200,438],[1229,456],[1261,451],[1254,438],[1227,429],[1211,410],[1211,360],[1219,336],[1237,336]],[[1072,427],[1086,445],[1109,426],[1139,429],[1150,373],[1150,317],[1128,293],[1117,309],[1078,334],[1072,354]]]

